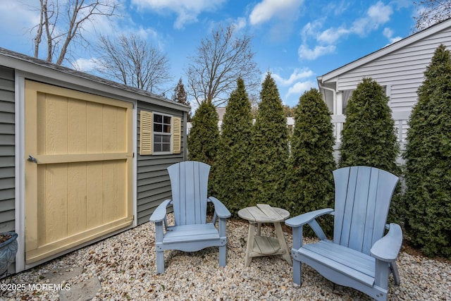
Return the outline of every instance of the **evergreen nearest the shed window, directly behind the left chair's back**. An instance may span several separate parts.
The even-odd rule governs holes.
[[[192,117],[192,128],[188,135],[188,159],[212,166],[218,143],[218,113],[211,102],[202,102]]]

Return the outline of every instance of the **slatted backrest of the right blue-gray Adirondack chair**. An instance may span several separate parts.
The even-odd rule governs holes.
[[[352,166],[333,172],[335,243],[369,254],[382,238],[397,176],[378,168]]]

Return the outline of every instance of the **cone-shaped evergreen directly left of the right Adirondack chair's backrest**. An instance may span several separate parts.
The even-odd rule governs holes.
[[[333,208],[333,125],[330,111],[316,89],[305,92],[295,109],[295,130],[288,164],[287,199],[296,216],[322,208]],[[330,220],[331,221],[331,220]],[[332,224],[321,223],[331,233]]]

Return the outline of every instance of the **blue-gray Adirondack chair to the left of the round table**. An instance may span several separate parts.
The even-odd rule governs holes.
[[[230,211],[215,197],[207,197],[210,166],[184,161],[168,167],[172,199],[166,199],[150,216],[155,223],[156,272],[164,273],[164,250],[194,252],[219,247],[219,265],[226,266],[226,219]],[[214,205],[211,223],[206,222],[206,204]],[[166,208],[173,205],[174,226],[168,226]],[[218,218],[218,229],[215,227]],[[164,228],[164,229],[163,229]],[[164,231],[166,230],[166,231]]]

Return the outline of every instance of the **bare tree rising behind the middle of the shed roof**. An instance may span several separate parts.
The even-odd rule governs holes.
[[[135,35],[113,40],[101,36],[97,53],[99,73],[125,85],[161,93],[161,86],[172,79],[166,54]]]

